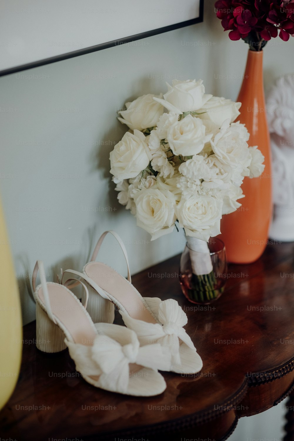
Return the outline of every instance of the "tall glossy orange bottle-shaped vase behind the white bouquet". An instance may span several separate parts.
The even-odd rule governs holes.
[[[227,260],[233,263],[255,262],[268,242],[268,229],[272,218],[271,148],[266,119],[263,52],[249,50],[245,75],[238,100],[242,103],[239,120],[246,124],[249,146],[258,146],[264,155],[264,172],[259,178],[244,178],[242,190],[245,198],[234,213],[223,216],[220,238],[227,250]]]

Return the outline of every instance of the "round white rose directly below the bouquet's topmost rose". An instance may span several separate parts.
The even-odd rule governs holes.
[[[167,130],[167,141],[175,155],[196,155],[211,138],[212,134],[205,135],[205,125],[202,121],[192,115],[187,115]]]

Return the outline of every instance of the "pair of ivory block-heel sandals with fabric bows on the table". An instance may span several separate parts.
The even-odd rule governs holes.
[[[108,265],[96,262],[108,232],[123,250],[127,279]],[[38,269],[41,284],[36,287]],[[72,276],[63,280],[70,273],[81,280]],[[78,284],[85,293],[84,304],[69,290]],[[153,396],[166,389],[164,377],[157,370],[195,374],[202,368],[201,357],[183,329],[186,314],[175,300],[143,298],[134,288],[126,248],[114,231],[101,235],[82,273],[68,269],[59,283],[46,282],[44,265],[37,261],[33,291],[37,348],[59,352],[67,347],[76,370],[96,387],[127,395]],[[114,305],[126,327],[112,324]]]

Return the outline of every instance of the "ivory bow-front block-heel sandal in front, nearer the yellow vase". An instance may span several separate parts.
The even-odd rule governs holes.
[[[36,287],[38,269],[41,284]],[[66,287],[73,280],[84,288],[84,306]],[[109,323],[94,325],[85,309],[89,293],[83,282],[72,278],[64,285],[46,282],[43,263],[38,261],[33,271],[33,290],[38,349],[59,352],[67,347],[76,370],[101,389],[134,396],[158,395],[166,389],[164,378],[157,372],[167,363],[160,344],[140,348],[131,329]]]

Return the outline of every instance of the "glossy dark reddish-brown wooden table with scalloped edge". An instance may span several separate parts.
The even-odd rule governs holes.
[[[166,391],[136,398],[95,389],[67,351],[37,351],[35,322],[24,327],[22,368],[0,412],[0,435],[16,440],[226,439],[238,418],[275,406],[294,389],[294,244],[268,245],[251,265],[229,265],[227,287],[209,306],[189,303],[179,256],[133,277],[142,295],[176,299],[203,359],[196,375],[164,373]],[[293,409],[292,397],[292,409]],[[287,441],[294,440],[293,412]]]

